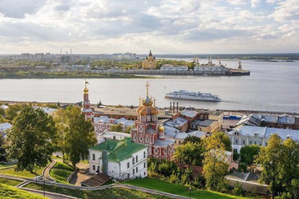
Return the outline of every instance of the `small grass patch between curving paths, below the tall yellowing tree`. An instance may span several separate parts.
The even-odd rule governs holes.
[[[68,164],[57,162],[50,170],[50,176],[59,183],[68,183],[68,176],[70,176],[75,168]]]

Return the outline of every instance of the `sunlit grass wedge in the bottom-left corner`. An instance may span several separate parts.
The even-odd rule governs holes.
[[[44,197],[0,183],[0,198],[43,199]]]

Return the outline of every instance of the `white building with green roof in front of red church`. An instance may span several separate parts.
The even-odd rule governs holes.
[[[103,173],[117,180],[147,176],[147,146],[130,138],[105,140],[91,147],[90,173]]]

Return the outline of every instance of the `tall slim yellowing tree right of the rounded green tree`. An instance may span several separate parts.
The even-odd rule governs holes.
[[[224,191],[226,179],[224,176],[228,170],[227,155],[224,143],[220,138],[207,138],[203,174],[206,179],[206,187],[213,191]]]

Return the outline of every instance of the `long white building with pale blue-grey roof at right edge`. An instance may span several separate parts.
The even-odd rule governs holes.
[[[226,133],[231,140],[231,146],[240,152],[246,145],[259,145],[267,147],[270,135],[278,134],[281,140],[291,138],[299,143],[299,131],[283,128],[269,128],[260,126],[242,126]]]

